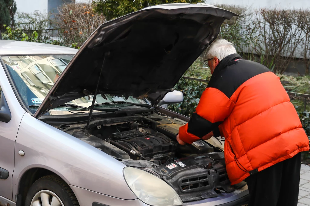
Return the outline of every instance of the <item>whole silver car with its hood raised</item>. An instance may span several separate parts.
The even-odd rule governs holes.
[[[0,40],[0,205],[242,205],[224,139],[179,145],[189,118],[158,105],[230,11],[153,6],[102,24],[81,49]],[[163,99],[164,98],[164,99]]]

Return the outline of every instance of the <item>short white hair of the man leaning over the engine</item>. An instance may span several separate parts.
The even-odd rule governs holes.
[[[210,45],[210,49],[207,51],[206,58],[218,58],[219,61],[224,59],[230,54],[236,54],[237,51],[233,44],[225,39],[219,39]]]

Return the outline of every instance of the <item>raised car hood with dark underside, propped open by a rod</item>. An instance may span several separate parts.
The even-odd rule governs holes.
[[[99,95],[148,97],[157,104],[216,38],[223,21],[235,15],[201,3],[166,4],[100,25],[69,62],[34,117],[92,95],[97,86]]]

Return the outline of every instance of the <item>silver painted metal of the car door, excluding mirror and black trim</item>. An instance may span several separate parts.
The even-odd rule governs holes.
[[[10,122],[0,122],[0,167],[9,172],[7,179],[0,179],[0,194],[9,200],[13,200],[12,174],[15,139],[25,110],[20,106],[2,64],[0,64],[0,86],[11,112]]]

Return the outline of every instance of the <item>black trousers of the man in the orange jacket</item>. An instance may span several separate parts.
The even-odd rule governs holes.
[[[249,206],[296,206],[301,153],[246,178]]]

